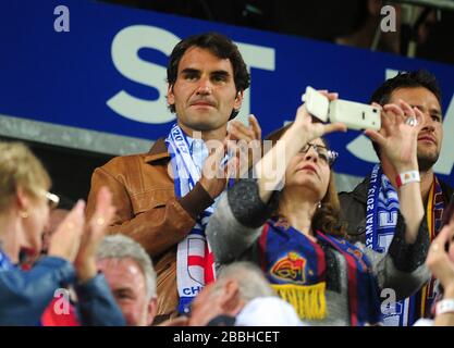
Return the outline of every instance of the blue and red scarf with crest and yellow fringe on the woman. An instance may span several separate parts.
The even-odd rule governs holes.
[[[320,244],[341,253],[347,266],[351,325],[381,322],[378,282],[368,258],[354,245],[317,232],[317,243],[282,221],[265,225],[259,250],[261,268],[278,294],[304,320],[327,315],[327,262]]]

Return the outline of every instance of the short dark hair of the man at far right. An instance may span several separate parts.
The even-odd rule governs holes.
[[[376,89],[370,98],[371,102],[377,102],[380,105],[384,105],[390,102],[391,95],[394,90],[400,88],[418,88],[424,87],[430,90],[439,101],[441,105],[441,90],[437,78],[433,74],[426,70],[417,70],[409,73],[398,73],[395,77],[386,79],[383,85]],[[378,145],[372,141],[373,149],[377,156],[380,158],[380,149]]]

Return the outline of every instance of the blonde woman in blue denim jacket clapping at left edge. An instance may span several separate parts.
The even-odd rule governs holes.
[[[56,290],[75,285],[82,324],[123,325],[106,281],[97,275],[95,253],[114,208],[111,194],[98,195],[94,217],[85,224],[81,200],[51,236],[48,256],[24,272],[21,248],[36,253],[49,210],[58,197],[39,160],[22,144],[0,142],[0,325],[38,325]]]

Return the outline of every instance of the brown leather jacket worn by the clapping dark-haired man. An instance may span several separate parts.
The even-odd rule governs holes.
[[[148,153],[116,157],[95,170],[87,200],[87,219],[93,215],[96,195],[108,186],[116,208],[108,233],[122,233],[149,253],[157,272],[158,312],[155,323],[176,316],[176,245],[195,225],[212,199],[200,184],[183,198],[175,198],[168,167],[170,154],[163,139]]]

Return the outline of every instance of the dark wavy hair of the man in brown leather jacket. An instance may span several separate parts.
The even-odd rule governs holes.
[[[246,64],[235,44],[230,38],[219,33],[205,33],[193,35],[180,41],[170,55],[169,65],[167,69],[167,80],[170,86],[175,84],[179,72],[179,64],[191,47],[199,47],[209,50],[212,54],[220,59],[229,59],[233,67],[233,79],[235,82],[236,91],[243,91],[249,87],[250,76],[247,72]],[[175,112],[175,105],[169,105],[171,112]],[[230,120],[238,114],[238,110],[233,110]]]

